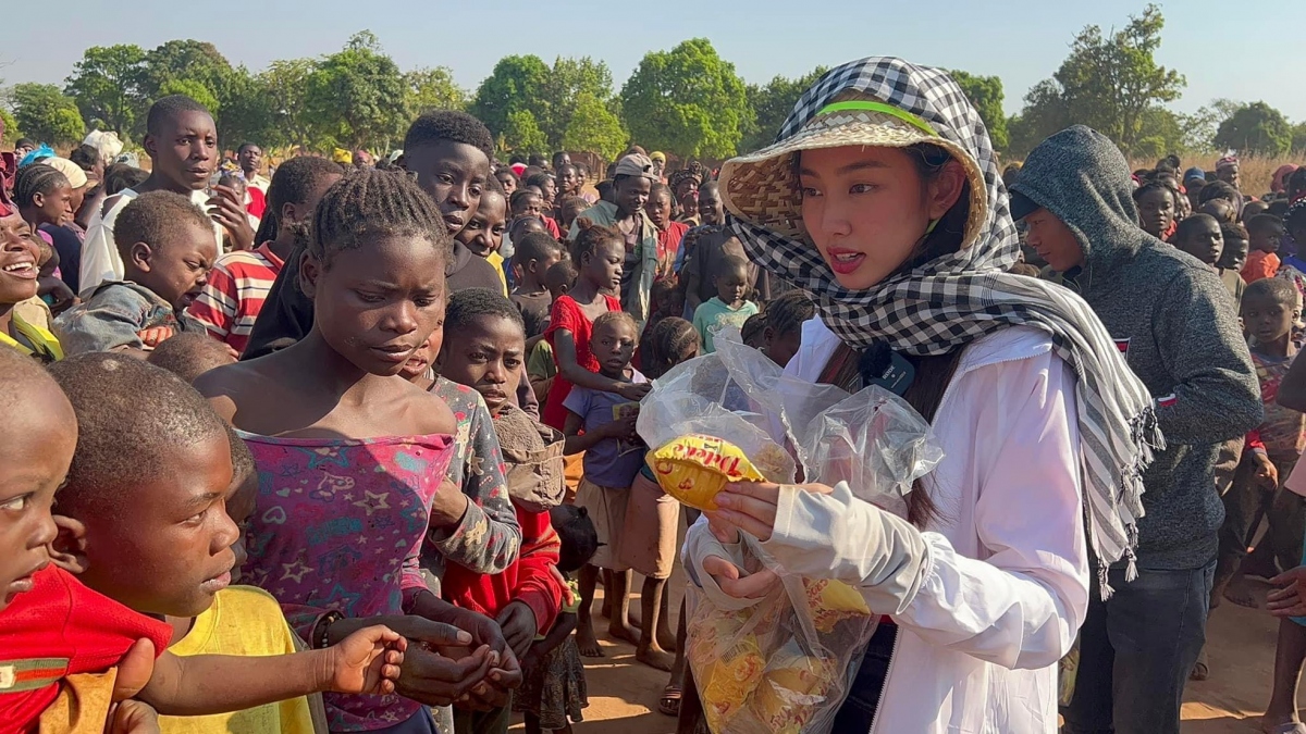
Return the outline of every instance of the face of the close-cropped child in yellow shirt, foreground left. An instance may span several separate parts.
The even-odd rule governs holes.
[[[227,436],[167,445],[158,466],[153,481],[123,490],[118,516],[77,517],[86,525],[81,580],[142,614],[195,616],[231,582],[236,559]]]

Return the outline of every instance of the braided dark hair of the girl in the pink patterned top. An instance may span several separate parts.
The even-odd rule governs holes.
[[[383,236],[419,236],[431,242],[448,263],[453,239],[435,201],[400,171],[362,168],[336,182],[313,215],[308,252],[330,268],[334,255]]]

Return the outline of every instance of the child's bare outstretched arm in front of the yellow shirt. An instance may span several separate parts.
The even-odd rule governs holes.
[[[165,652],[136,696],[165,716],[244,710],[320,691],[392,694],[406,640],[375,626],[338,645],[285,656],[193,656]]]

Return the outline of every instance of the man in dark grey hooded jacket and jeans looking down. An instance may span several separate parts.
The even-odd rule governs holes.
[[[1156,397],[1166,440],[1144,475],[1138,579],[1111,568],[1106,601],[1092,585],[1075,695],[1062,710],[1074,734],[1178,734],[1224,520],[1216,458],[1262,413],[1220,278],[1139,227],[1132,188],[1115,144],[1083,125],[1038,145],[1012,187],[1029,246],[1097,312]]]

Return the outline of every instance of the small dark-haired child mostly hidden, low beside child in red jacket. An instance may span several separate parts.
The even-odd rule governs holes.
[[[584,721],[581,709],[589,705],[585,665],[572,635],[580,606],[573,576],[598,551],[598,533],[584,507],[560,504],[549,516],[562,546],[558,571],[567,580],[568,596],[549,635],[535,637],[521,661],[521,690],[512,699],[512,710],[525,714],[526,734],[571,734],[571,722]]]

